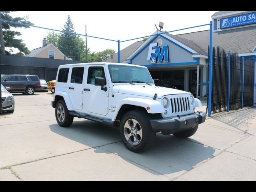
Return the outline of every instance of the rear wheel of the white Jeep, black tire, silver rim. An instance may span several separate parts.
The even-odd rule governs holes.
[[[73,123],[74,116],[70,115],[64,100],[59,100],[55,108],[55,118],[59,126],[68,127]]]

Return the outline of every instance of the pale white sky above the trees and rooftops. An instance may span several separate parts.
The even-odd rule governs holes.
[[[17,11],[11,16],[29,16],[29,21],[36,26],[62,30],[70,15],[77,33],[107,38],[112,40],[128,40],[151,35],[156,31],[159,21],[164,23],[163,30],[171,31],[202,24],[208,24],[216,11]],[[182,30],[172,34],[208,30],[209,26]],[[40,28],[16,28],[22,33],[18,38],[32,50],[42,46],[42,39],[50,30]],[[85,40],[85,37],[82,36]],[[138,39],[142,40],[142,39]],[[138,40],[120,43],[120,50]],[[111,48],[117,51],[117,42],[87,38],[90,51],[102,51]],[[17,51],[14,51],[14,53]]]

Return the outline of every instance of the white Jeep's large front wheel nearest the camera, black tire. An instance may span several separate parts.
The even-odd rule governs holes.
[[[156,132],[151,128],[148,114],[142,110],[132,110],[124,114],[120,134],[124,146],[136,153],[147,150],[156,140]]]

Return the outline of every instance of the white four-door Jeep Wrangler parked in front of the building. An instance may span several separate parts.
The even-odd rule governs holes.
[[[146,67],[104,62],[59,66],[52,100],[60,126],[78,117],[120,127],[133,152],[152,146],[156,132],[192,136],[206,118],[200,106],[189,92],[155,86]]]

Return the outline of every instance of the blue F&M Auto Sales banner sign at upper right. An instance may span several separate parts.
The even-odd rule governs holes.
[[[256,12],[220,19],[221,29],[250,24],[256,24]]]

